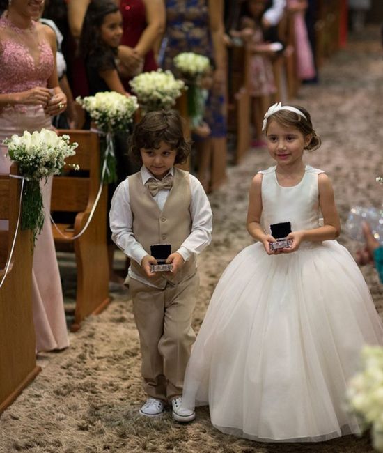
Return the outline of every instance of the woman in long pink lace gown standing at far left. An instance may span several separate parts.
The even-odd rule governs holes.
[[[6,4],[3,4],[6,3]],[[12,163],[3,139],[24,130],[51,128],[51,116],[63,112],[66,98],[58,86],[56,37],[33,20],[43,0],[1,0],[0,17],[0,172]],[[68,346],[63,294],[49,222],[52,177],[42,183],[45,224],[33,254],[32,303],[36,351]],[[22,282],[20,282],[22,284]]]

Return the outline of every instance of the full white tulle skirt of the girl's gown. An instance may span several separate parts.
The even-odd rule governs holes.
[[[255,243],[212,295],[183,404],[209,404],[214,427],[253,440],[359,433],[345,394],[364,344],[383,344],[382,323],[343,246],[332,240],[269,256]]]

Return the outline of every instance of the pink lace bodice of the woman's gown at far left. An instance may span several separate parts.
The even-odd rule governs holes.
[[[0,28],[6,27],[14,29],[16,33],[19,30],[6,17],[0,17]],[[38,60],[35,61],[21,41],[1,40],[0,93],[17,93],[36,86],[47,86],[47,80],[54,70],[54,57],[47,40],[40,40],[39,51]]]

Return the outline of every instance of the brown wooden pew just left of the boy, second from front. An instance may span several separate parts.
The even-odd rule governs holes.
[[[74,251],[77,263],[77,294],[75,321],[71,330],[79,329],[81,321],[89,314],[98,314],[110,302],[109,264],[107,252],[107,185],[102,188],[91,223],[85,233],[72,240],[89,218],[100,187],[100,144],[97,133],[87,130],[60,130],[68,134],[71,142],[79,144],[76,155],[67,159],[68,164],[78,164],[88,176],[77,176],[75,171],[66,176],[54,176],[51,212],[75,213],[73,225],[52,224],[57,251]],[[70,167],[66,167],[67,170]],[[68,173],[68,172],[67,172]],[[63,237],[63,236],[65,237]]]

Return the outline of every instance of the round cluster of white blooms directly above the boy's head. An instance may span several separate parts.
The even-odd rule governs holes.
[[[173,107],[185,87],[185,82],[175,79],[171,71],[162,69],[136,75],[129,84],[144,112]]]

